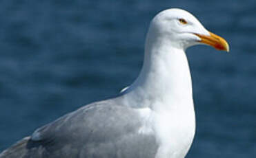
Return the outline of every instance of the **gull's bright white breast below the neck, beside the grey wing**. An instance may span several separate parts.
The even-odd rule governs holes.
[[[160,146],[156,158],[184,158],[188,153],[195,135],[195,111],[189,107],[193,106],[155,115],[155,134]]]

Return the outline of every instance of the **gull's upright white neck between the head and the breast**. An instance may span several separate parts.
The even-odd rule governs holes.
[[[145,45],[144,65],[135,82],[125,91],[124,98],[141,102],[135,107],[148,106],[151,109],[177,108],[166,102],[177,102],[180,106],[192,99],[192,83],[188,60],[183,49],[176,48],[165,36],[148,32]],[[129,101],[133,100],[133,101]],[[159,105],[161,104],[161,105]],[[161,107],[165,106],[165,107]]]

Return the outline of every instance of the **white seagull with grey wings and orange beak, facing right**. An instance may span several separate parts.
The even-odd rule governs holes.
[[[116,98],[82,106],[3,150],[1,158],[184,158],[195,135],[185,50],[228,43],[189,12],[159,12],[146,36],[138,78]]]

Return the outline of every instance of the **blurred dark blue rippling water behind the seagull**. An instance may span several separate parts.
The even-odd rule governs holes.
[[[0,1],[0,150],[132,83],[148,24],[184,8],[230,43],[188,49],[197,134],[188,158],[256,156],[256,3],[251,0]]]

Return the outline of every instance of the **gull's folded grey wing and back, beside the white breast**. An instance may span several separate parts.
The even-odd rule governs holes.
[[[42,126],[0,157],[155,157],[155,137],[139,134],[139,127],[135,109],[95,102]]]

